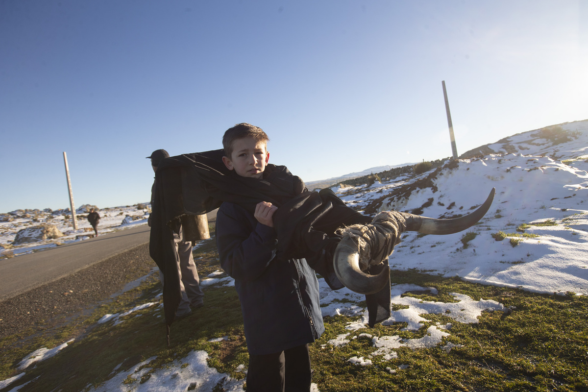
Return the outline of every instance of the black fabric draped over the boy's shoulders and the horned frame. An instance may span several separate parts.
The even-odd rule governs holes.
[[[222,202],[236,203],[252,213],[260,202],[278,206],[274,215],[278,252],[288,258],[305,258],[332,289],[342,287],[332,267],[332,252],[339,242],[335,230],[371,222],[370,217],[345,206],[330,189],[310,192],[286,166],[268,164],[262,179],[241,177],[227,169],[223,155],[220,149],[172,156],[163,159],[155,173],[149,252],[163,272],[168,334],[181,299],[172,232],[179,232],[181,225],[183,240],[198,239],[196,215],[211,212]],[[389,317],[389,293],[388,286],[387,296],[380,295],[383,299],[376,300],[378,294],[373,294],[372,300],[368,296],[370,325]]]

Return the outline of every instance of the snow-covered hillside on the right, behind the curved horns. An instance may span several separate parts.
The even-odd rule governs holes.
[[[554,129],[520,133],[486,146],[492,154],[448,160],[419,176],[334,190],[370,215],[395,209],[455,217],[480,205],[495,187],[489,212],[467,230],[473,239],[464,244],[464,232],[405,233],[390,256],[391,268],[534,292],[586,294],[588,120]]]

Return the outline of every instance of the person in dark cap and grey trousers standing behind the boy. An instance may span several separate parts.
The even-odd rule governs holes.
[[[159,162],[164,158],[169,158],[169,154],[163,149],[155,150],[147,158],[151,159],[151,167],[153,168],[153,172],[155,172],[159,166]],[[155,199],[155,179],[151,187],[151,214],[154,213],[153,199]],[[149,227],[151,227],[151,214],[147,219],[147,225]],[[172,234],[176,250],[176,262],[178,263],[180,289],[182,291],[182,300],[180,301],[178,310],[176,310],[176,317],[185,317],[192,313],[191,308],[196,309],[204,304],[204,293],[200,288],[198,269],[196,269],[196,263],[194,263],[194,257],[192,256],[192,243],[182,241],[182,226],[179,226],[178,233],[172,232]],[[161,270],[159,272],[159,277],[163,284],[163,272]]]

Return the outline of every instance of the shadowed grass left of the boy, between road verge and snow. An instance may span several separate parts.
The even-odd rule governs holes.
[[[143,292],[152,292],[152,286],[159,288],[159,282],[146,283],[143,285]],[[148,301],[152,300],[153,296],[149,296]],[[119,302],[115,303],[119,308],[111,308],[108,313],[113,310],[121,313],[145,302],[145,299],[139,298],[133,303],[119,299]],[[137,317],[139,314],[141,316]],[[203,317],[204,314],[206,317]],[[92,316],[91,319],[95,320],[98,316]],[[205,306],[194,311],[191,316],[173,323],[169,347],[163,311],[158,306],[132,313],[123,320],[117,326],[112,326],[112,323],[96,326],[83,339],[74,341],[54,358],[28,369],[24,381],[40,377],[42,383],[31,384],[27,390],[47,391],[61,386],[63,390],[81,391],[88,384],[96,385],[112,377],[111,373],[116,364],[122,363],[121,370],[129,370],[152,356],[156,356],[153,367],[161,368],[173,360],[186,356],[192,350],[211,349],[211,343],[208,343],[211,337],[218,334],[237,335],[235,330],[239,330],[242,323],[235,290],[227,290],[226,287],[206,290]],[[241,330],[240,336],[242,335]],[[243,341],[241,339],[241,350],[245,350]],[[48,344],[47,347],[54,347],[54,344]],[[214,358],[214,353],[220,350],[210,352]],[[72,377],[74,375],[75,377]],[[238,377],[239,374],[235,376]],[[133,380],[128,378],[126,382],[132,383]]]

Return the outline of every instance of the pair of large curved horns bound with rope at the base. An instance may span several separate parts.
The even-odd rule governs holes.
[[[402,213],[406,217],[406,230],[425,234],[453,234],[475,225],[488,212],[496,189],[492,188],[486,201],[474,212],[454,219],[434,219]],[[364,273],[359,267],[359,246],[352,237],[341,239],[333,257],[335,274],[345,287],[360,294],[375,294],[387,283],[390,270],[385,268],[377,275]]]

